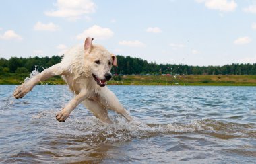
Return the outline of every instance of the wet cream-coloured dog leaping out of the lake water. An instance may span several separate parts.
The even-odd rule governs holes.
[[[113,123],[108,116],[108,109],[121,114],[128,122],[133,121],[115,94],[106,87],[106,81],[112,77],[110,73],[112,66],[117,66],[117,57],[103,46],[92,44],[92,40],[94,39],[88,37],[84,46],[75,46],[68,50],[61,63],[44,69],[18,86],[13,96],[16,99],[22,98],[40,81],[61,75],[75,96],[56,114],[55,117],[59,122],[65,122],[80,103],[104,123]]]

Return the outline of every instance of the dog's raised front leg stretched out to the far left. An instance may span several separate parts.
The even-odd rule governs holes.
[[[29,79],[26,83],[23,83],[22,85],[17,87],[13,92],[13,96],[16,99],[24,97],[24,95],[26,95],[26,93],[31,91],[37,83],[39,83],[40,81],[49,79],[50,77],[53,77],[55,75],[61,75],[65,72],[64,70],[65,69],[63,69],[63,66],[61,65],[61,63],[53,65],[48,69],[44,69],[44,71],[42,71],[38,75]]]

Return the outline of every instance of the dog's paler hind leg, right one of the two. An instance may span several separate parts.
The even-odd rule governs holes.
[[[100,103],[106,106],[106,108],[121,114],[129,122],[133,121],[133,118],[129,115],[127,110],[125,110],[125,108],[120,104],[117,96],[107,87],[104,87],[104,89],[102,88],[102,91],[99,93],[99,95]]]

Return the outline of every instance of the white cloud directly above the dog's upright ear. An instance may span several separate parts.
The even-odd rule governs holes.
[[[78,34],[76,36],[79,40],[85,40],[86,37],[90,36],[92,38],[96,38],[97,40],[104,40],[111,38],[114,35],[114,32],[110,30],[109,28],[102,28],[98,25],[94,25],[82,32],[81,34]]]

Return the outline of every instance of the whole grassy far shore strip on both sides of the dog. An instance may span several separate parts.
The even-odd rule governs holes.
[[[0,75],[1,85],[19,85],[28,75]],[[65,85],[61,77],[52,77],[42,85]],[[212,85],[256,86],[256,75],[123,75],[113,76],[108,85]]]

